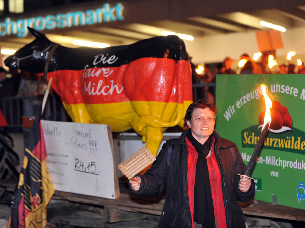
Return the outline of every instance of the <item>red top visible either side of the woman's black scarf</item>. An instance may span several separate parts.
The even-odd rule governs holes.
[[[192,214],[192,224],[194,224],[194,186],[196,177],[196,163],[198,159],[198,153],[192,143],[185,137],[186,145],[188,147],[188,200],[190,204],[190,210]],[[225,209],[224,209],[224,198],[222,195],[222,182],[220,170],[217,164],[216,156],[214,153],[214,142],[213,140],[211,156],[207,158],[211,192],[213,198],[215,221],[218,221],[218,228],[227,228]]]

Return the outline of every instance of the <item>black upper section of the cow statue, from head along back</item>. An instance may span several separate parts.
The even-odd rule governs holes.
[[[45,34],[28,27],[29,31],[36,37],[34,41],[25,45],[15,54],[5,59],[4,63],[11,69],[21,69],[26,72],[42,73],[48,53],[54,45]],[[120,66],[128,64],[139,58],[170,58],[175,61],[188,60],[185,51],[184,42],[177,36],[160,36],[146,40],[140,40],[134,44],[113,46],[103,48],[103,52],[111,53],[111,55],[120,56],[111,66]],[[59,45],[52,55],[49,63],[48,72],[56,70],[81,70],[84,65],[88,64],[88,59],[97,56],[97,61],[101,60],[101,48],[78,47],[68,48]],[[105,58],[106,56],[104,56]],[[110,65],[103,61],[98,64],[88,66],[91,67],[109,67]]]

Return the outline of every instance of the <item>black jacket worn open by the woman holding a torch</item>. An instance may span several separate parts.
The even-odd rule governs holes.
[[[141,177],[138,191],[134,191],[129,184],[132,192],[143,197],[158,196],[167,188],[160,228],[192,227],[187,183],[188,150],[185,142],[188,131],[190,129],[184,131],[179,138],[166,141],[152,167],[144,175],[138,175]],[[246,165],[234,142],[220,138],[216,132],[213,135],[214,151],[222,179],[227,227],[242,228],[245,227],[245,219],[237,201],[246,202],[254,198],[255,184],[252,181],[247,192],[239,191],[240,176],[236,173],[243,174]]]

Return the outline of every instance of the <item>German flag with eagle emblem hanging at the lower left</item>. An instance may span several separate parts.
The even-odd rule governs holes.
[[[35,118],[25,146],[23,166],[11,203],[12,228],[45,227],[46,206],[54,193],[46,163],[41,115]]]

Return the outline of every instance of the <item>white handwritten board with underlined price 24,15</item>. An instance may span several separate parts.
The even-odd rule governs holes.
[[[41,123],[48,171],[55,190],[118,197],[107,125],[45,120]]]

